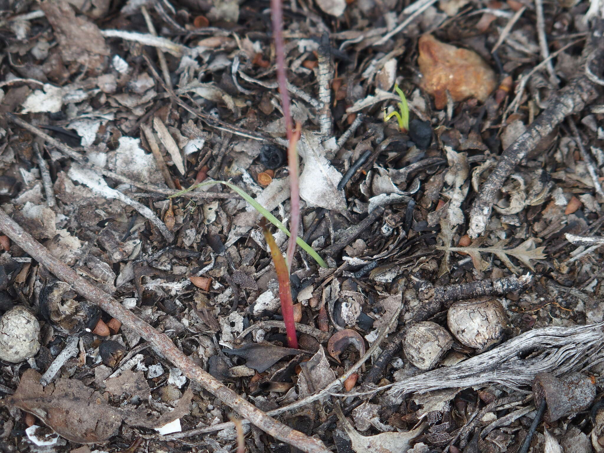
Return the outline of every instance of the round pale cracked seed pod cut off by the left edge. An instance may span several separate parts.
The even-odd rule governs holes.
[[[16,306],[0,318],[0,359],[18,364],[40,349],[40,323],[25,307]]]

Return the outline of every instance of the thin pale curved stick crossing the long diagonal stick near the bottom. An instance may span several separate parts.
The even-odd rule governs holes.
[[[299,407],[306,406],[307,404],[313,403],[316,400],[323,399],[328,394],[333,394],[332,391],[335,388],[342,387],[344,381],[350,377],[352,373],[356,373],[356,371],[361,368],[361,366],[370,358],[374,352],[376,352],[377,348],[382,344],[384,339],[388,336],[388,332],[394,329],[396,324],[399,321],[399,315],[401,310],[403,309],[403,303],[401,302],[399,307],[394,312],[388,324],[382,327],[382,331],[377,335],[376,341],[374,341],[367,352],[354,364],[348,371],[346,371],[342,376],[338,377],[331,384],[327,385],[326,388],[319,391],[318,393],[314,393],[312,395],[307,396],[304,399],[296,401],[294,403],[282,406],[280,408],[274,409],[272,411],[268,411],[266,415],[275,416],[278,414],[283,414],[284,412],[293,411]],[[344,396],[349,396],[348,394]],[[246,420],[242,420],[243,423],[248,423]],[[231,422],[226,423],[218,423],[217,425],[210,426],[209,428],[199,428],[199,429],[191,429],[191,431],[179,432],[178,434],[171,434],[170,439],[182,439],[183,437],[190,437],[191,435],[204,434],[205,432],[219,431],[220,429],[233,428],[234,424]]]

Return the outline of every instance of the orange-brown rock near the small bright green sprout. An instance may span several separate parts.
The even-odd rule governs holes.
[[[446,90],[454,101],[477,98],[485,101],[497,88],[495,72],[474,51],[440,42],[431,34],[419,39],[421,86],[434,96],[437,109],[447,104]]]

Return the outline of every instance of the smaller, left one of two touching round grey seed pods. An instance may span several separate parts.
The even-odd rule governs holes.
[[[406,358],[420,370],[431,370],[453,345],[451,334],[439,324],[422,321],[409,327],[403,340]]]

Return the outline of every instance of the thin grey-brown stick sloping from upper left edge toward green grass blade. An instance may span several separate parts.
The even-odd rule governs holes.
[[[115,173],[115,172],[112,172],[111,170],[105,169],[104,167],[100,167],[99,165],[92,164],[91,162],[86,161],[85,156],[81,155],[76,150],[67,146],[65,143],[61,143],[60,141],[55,140],[53,137],[50,137],[50,135],[42,132],[36,126],[32,126],[31,124],[27,123],[26,121],[22,120],[21,118],[16,117],[15,115],[10,114],[10,113],[7,113],[6,117],[8,118],[8,120],[17,124],[17,126],[21,126],[24,129],[29,130],[34,135],[37,135],[38,137],[43,138],[46,143],[56,147],[56,149],[58,149],[60,152],[62,152],[66,156],[69,156],[72,159],[74,159],[76,162],[78,162],[80,165],[82,165],[82,167],[85,167],[85,168],[91,169],[91,170],[95,170],[95,172],[99,172],[99,173],[101,173],[101,175],[105,175],[105,176],[108,176],[109,178],[113,178],[113,179],[115,179],[115,181],[123,182],[123,184],[133,185],[134,187],[138,187],[140,189],[143,189],[143,190],[146,190],[149,192],[160,193],[160,194],[166,195],[166,196],[172,196],[172,195],[180,192],[179,190],[170,190],[170,189],[166,189],[163,187],[158,187],[156,185],[144,184],[143,182],[134,181],[133,179],[126,178],[126,176],[120,175],[119,173]],[[181,194],[181,196],[183,196],[185,198],[201,198],[201,199],[241,198],[236,193],[208,193],[208,192],[193,192],[193,191]]]

